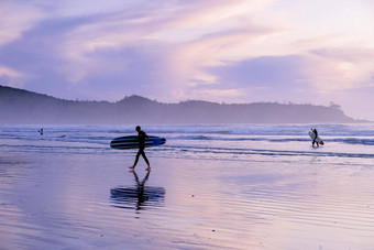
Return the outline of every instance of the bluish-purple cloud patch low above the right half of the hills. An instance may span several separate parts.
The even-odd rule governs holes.
[[[307,66],[305,56],[262,56],[208,70],[222,87],[240,89],[242,101],[279,101],[310,90]]]

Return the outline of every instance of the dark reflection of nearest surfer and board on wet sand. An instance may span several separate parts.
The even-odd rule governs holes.
[[[151,172],[147,172],[142,181],[140,181],[136,172],[132,173],[135,178],[135,186],[119,186],[110,189],[112,206],[135,210],[163,206],[166,193],[165,188],[145,185]]]

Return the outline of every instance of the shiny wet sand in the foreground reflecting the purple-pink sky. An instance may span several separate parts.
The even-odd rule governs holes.
[[[0,249],[372,249],[374,167],[0,152]]]

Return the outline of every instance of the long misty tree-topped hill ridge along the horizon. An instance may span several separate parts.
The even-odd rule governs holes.
[[[217,104],[187,100],[163,104],[141,96],[117,102],[74,101],[0,86],[2,124],[166,124],[166,123],[348,123],[337,105],[276,102]]]

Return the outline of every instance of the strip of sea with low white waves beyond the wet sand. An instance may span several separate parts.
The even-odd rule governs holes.
[[[287,161],[318,156],[320,162],[373,164],[374,124],[316,124],[324,145],[311,146],[310,124],[143,126],[148,135],[167,140],[147,149],[152,156],[228,161]],[[0,127],[0,150],[58,154],[124,154],[109,146],[117,137],[136,134],[134,126]],[[273,156],[273,157],[268,157]]]

